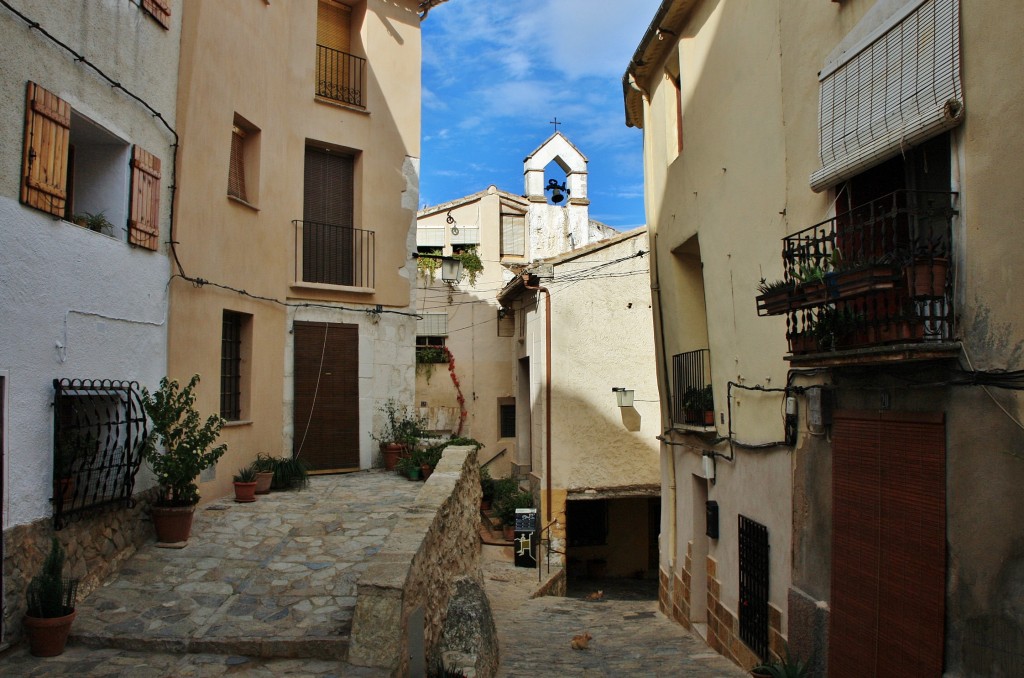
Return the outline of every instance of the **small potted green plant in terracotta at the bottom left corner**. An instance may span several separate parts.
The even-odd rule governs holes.
[[[36,656],[56,656],[63,651],[75,621],[78,580],[63,576],[65,551],[56,537],[39,574],[29,582],[24,626],[29,651]]]

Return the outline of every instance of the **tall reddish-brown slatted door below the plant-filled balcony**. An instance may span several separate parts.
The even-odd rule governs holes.
[[[941,414],[836,414],[831,678],[942,675],[945,458]]]

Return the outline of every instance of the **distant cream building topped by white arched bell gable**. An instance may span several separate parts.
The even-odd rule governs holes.
[[[559,203],[549,202],[545,183],[549,169],[564,173],[558,182],[564,186]],[[499,303],[498,292],[532,261],[615,234],[590,218],[587,175],[586,156],[556,132],[526,156],[521,196],[492,185],[418,214],[421,254],[473,252],[482,264],[472,280],[467,272],[451,285],[441,280],[439,269],[430,273],[421,266],[417,346],[446,347],[455,358],[458,386],[446,362],[418,362],[419,414],[432,431],[461,430],[482,442],[481,463],[495,477],[514,472],[513,465],[529,466],[528,443],[517,442],[524,406],[515,386],[516,319],[514,311]],[[422,359],[424,351],[419,355]]]

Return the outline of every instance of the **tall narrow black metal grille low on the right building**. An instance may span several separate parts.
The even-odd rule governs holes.
[[[768,527],[739,516],[739,638],[768,658]]]

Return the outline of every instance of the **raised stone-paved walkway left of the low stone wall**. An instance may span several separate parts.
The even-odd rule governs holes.
[[[197,511],[185,548],[146,544],[79,605],[62,658],[14,650],[0,675],[377,675],[339,664],[355,585],[422,486],[369,471],[212,503]]]

